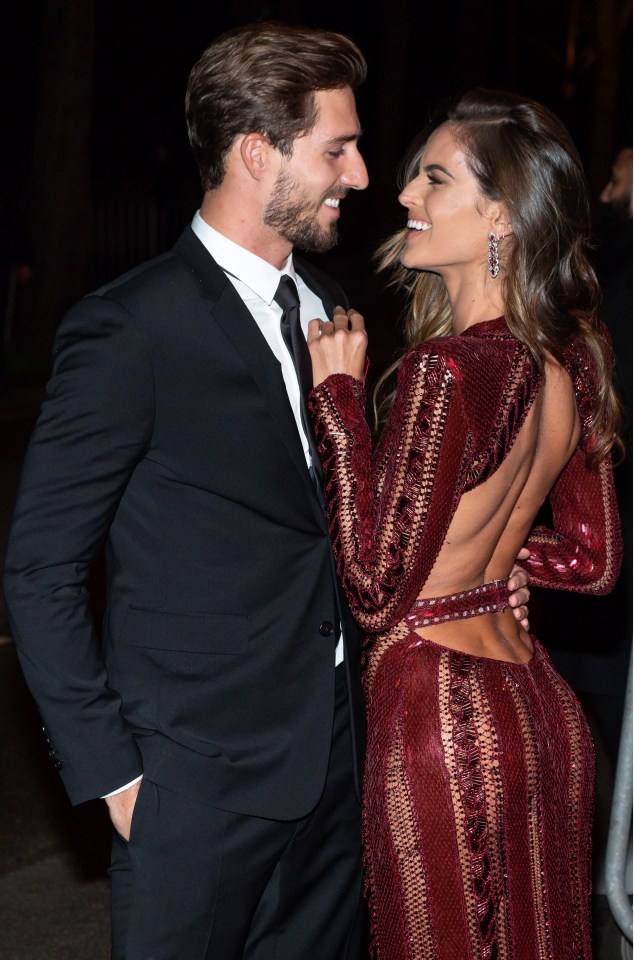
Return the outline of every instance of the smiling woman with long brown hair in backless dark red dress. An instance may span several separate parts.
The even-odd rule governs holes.
[[[333,548],[367,636],[374,954],[589,960],[593,746],[506,588],[523,544],[542,587],[606,593],[621,560],[582,168],[543,106],[474,90],[400,202],[381,263],[410,293],[409,349],[374,451],[362,318],[309,327]],[[554,529],[533,529],[549,494]]]

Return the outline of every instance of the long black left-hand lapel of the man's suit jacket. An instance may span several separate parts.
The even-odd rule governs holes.
[[[190,227],[181,235],[174,249],[190,267],[200,285],[202,296],[210,301],[213,322],[222,330],[257,383],[289,456],[310,490],[315,512],[323,522],[323,509],[308,472],[304,449],[277,358],[235,287]]]

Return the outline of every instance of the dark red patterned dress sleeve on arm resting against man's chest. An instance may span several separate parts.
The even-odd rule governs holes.
[[[374,454],[360,381],[335,374],[311,393],[337,570],[368,632],[409,610],[460,498],[469,436],[458,377],[437,347],[409,354]]]

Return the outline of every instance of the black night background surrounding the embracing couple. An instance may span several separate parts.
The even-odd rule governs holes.
[[[401,308],[374,273],[371,256],[403,223],[397,164],[440,99],[484,84],[524,93],[554,110],[577,143],[599,223],[598,194],[616,152],[632,143],[631,0],[374,0],[371,10],[358,2],[354,7],[341,0],[23,0],[5,5],[0,27],[2,556],[24,449],[63,313],[98,284],[170,246],[197,209],[201,193],[185,130],[185,87],[194,61],[223,30],[259,19],[326,27],[348,34],[367,57],[369,77],[357,100],[370,187],[346,200],[339,246],[316,262],[340,280],[366,315],[371,380],[399,346]],[[624,322],[631,336],[632,317]],[[625,362],[629,366],[631,357]],[[621,488],[631,489],[631,472]],[[626,563],[612,596],[534,590],[531,597],[531,625],[582,698],[597,740],[597,849],[609,819],[631,647],[631,496],[623,520]],[[6,955],[11,960],[101,956],[105,894],[99,892],[93,905],[94,929],[88,919],[82,926],[77,911],[86,904],[86,887],[78,890],[71,913],[69,874],[56,858],[73,850],[83,864],[82,884],[87,876],[103,878],[108,833],[103,804],[70,811],[39,739],[1,596],[0,694],[0,907],[8,904],[7,943],[7,931],[15,928],[14,946]],[[48,914],[37,900],[46,884]],[[29,897],[34,925],[16,919],[24,915]],[[85,953],[78,931],[92,944]],[[33,947],[27,943],[31,934]],[[608,950],[600,960],[614,955]]]

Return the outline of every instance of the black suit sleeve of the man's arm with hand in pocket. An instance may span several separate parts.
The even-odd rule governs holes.
[[[4,594],[18,656],[71,801],[133,780],[139,752],[109,688],[88,577],[152,435],[149,351],[93,296],[60,326],[18,490]]]

